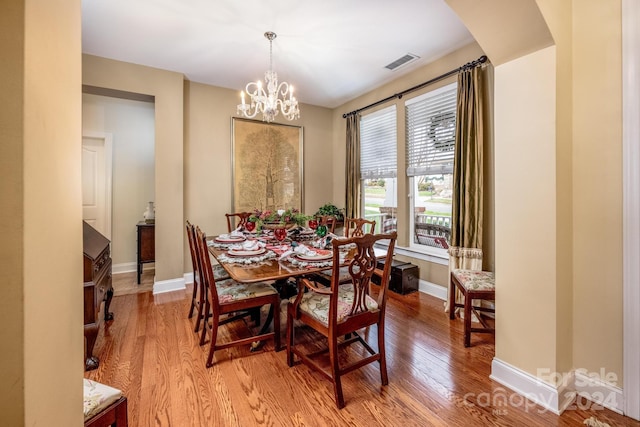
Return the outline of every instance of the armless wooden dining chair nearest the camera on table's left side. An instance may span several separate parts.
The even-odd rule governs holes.
[[[232,279],[216,281],[211,268],[207,237],[196,227],[198,256],[202,268],[202,279],[208,289],[205,299],[205,313],[211,311],[211,322],[204,322],[202,336],[210,336],[209,356],[207,368],[213,366],[213,355],[216,350],[250,344],[273,338],[276,351],[280,350],[280,295],[278,291],[266,282],[240,283]],[[248,338],[240,338],[224,343],[218,342],[218,328],[226,323],[244,317],[247,310],[271,305],[273,310],[273,331]],[[239,315],[234,313],[241,312]],[[221,318],[222,316],[227,316]],[[202,341],[201,341],[202,343]]]

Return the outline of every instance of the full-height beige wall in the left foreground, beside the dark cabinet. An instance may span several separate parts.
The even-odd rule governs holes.
[[[80,426],[80,2],[1,10],[0,418]]]

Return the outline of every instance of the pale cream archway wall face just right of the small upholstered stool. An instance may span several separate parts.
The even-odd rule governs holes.
[[[495,69],[496,358],[532,374],[556,371],[555,52]]]

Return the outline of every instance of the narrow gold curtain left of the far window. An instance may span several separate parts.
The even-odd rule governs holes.
[[[345,217],[358,218],[360,214],[360,114],[347,116],[347,183]]]

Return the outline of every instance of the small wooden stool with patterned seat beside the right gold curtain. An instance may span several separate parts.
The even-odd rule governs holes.
[[[464,304],[456,302],[456,288],[464,295]],[[453,270],[451,272],[451,283],[449,291],[449,318],[455,318],[455,309],[464,309],[464,346],[471,345],[471,333],[495,333],[495,329],[490,327],[486,320],[478,312],[495,313],[495,309],[489,307],[474,306],[473,300],[496,299],[495,276],[490,271],[473,270]],[[482,328],[471,327],[471,313],[476,315]]]

